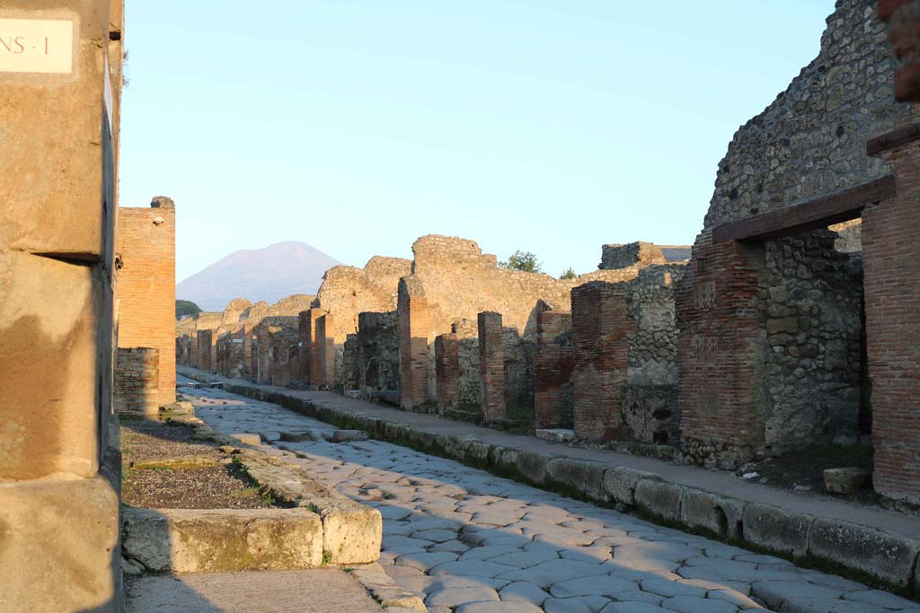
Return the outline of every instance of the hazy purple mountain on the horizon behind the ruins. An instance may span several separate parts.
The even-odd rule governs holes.
[[[240,249],[176,286],[176,298],[205,311],[223,311],[234,298],[273,303],[291,294],[316,294],[323,274],[339,262],[297,241]]]

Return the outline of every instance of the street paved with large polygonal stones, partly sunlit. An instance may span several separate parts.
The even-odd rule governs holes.
[[[326,442],[334,427],[275,404],[181,392],[215,430],[259,433],[271,453],[295,455],[316,480],[378,507],[380,563],[426,595],[432,613],[920,612],[887,592],[453,460],[374,440]],[[282,432],[316,441],[280,442]]]

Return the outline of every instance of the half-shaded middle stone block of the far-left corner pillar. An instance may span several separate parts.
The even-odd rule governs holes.
[[[98,267],[0,253],[0,479],[98,472],[102,302]]]

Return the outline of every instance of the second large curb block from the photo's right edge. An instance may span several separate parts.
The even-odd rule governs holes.
[[[743,538],[765,550],[800,558],[808,551],[808,532],[814,519],[778,506],[749,503],[743,512]]]

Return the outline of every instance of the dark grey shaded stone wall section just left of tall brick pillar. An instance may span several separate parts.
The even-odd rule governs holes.
[[[399,331],[397,312],[358,315],[358,380],[362,398],[399,389]]]

